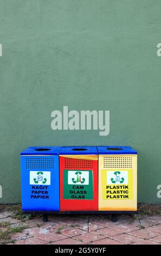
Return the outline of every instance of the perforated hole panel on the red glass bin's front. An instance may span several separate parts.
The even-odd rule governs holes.
[[[93,168],[93,161],[65,157],[65,168]]]

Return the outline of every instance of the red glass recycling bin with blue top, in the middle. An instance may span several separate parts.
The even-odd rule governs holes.
[[[60,150],[60,210],[98,210],[96,147],[62,147]]]

